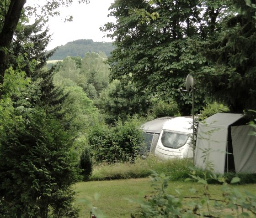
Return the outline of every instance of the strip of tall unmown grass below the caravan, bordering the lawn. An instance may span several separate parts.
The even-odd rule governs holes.
[[[206,172],[203,169],[193,167],[192,159],[170,159],[160,161],[149,155],[147,158],[136,158],[133,163],[115,163],[115,164],[94,164],[92,174],[90,177],[91,181],[103,181],[112,179],[127,179],[127,178],[144,178],[149,177],[152,171],[158,174],[165,174],[170,177],[170,181],[184,181],[190,177],[192,171],[196,172],[196,175],[207,179],[208,183],[220,183],[218,180],[213,178],[211,172]],[[218,175],[217,175],[218,177]],[[245,183],[256,183],[256,174],[246,173],[224,173],[224,178],[229,183],[233,177],[240,178],[240,184]]]

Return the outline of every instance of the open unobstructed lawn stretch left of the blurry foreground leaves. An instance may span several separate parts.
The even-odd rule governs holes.
[[[88,200],[109,218],[128,218],[138,207],[130,203],[128,198],[143,198],[150,193],[150,188],[149,178],[76,183],[76,203],[81,209],[80,218],[90,217]],[[96,193],[98,199],[95,199]]]

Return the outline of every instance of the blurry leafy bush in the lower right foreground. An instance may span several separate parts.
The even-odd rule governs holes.
[[[146,195],[139,202],[139,209],[131,214],[132,218],[195,218],[195,217],[255,217],[256,195],[245,192],[240,193],[236,188],[227,183],[221,186],[222,195],[219,199],[213,199],[209,193],[206,180],[198,176],[192,176],[197,183],[203,186],[202,191],[189,188],[190,196],[184,196],[182,190],[174,187],[176,195],[168,192],[169,177],[163,173],[153,172],[151,175],[154,192]],[[231,183],[237,183],[237,177]],[[211,203],[212,202],[212,203]]]

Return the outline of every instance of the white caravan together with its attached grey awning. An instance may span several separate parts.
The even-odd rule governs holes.
[[[159,159],[193,157],[191,117],[161,117],[142,125],[147,151]]]

